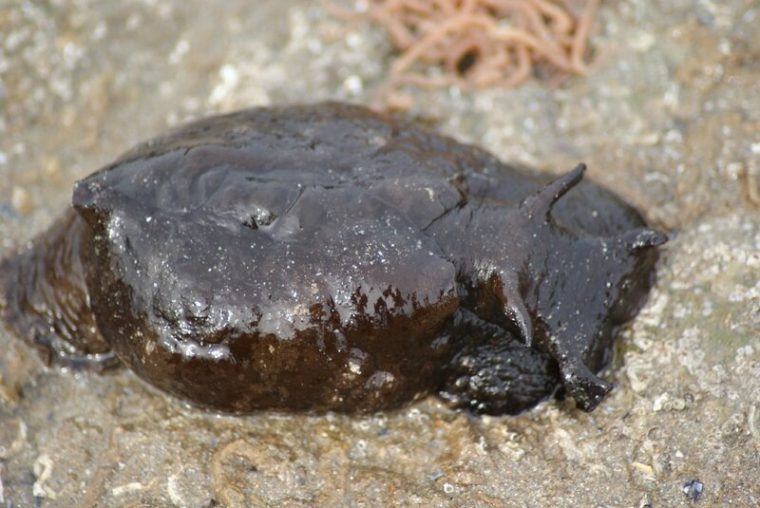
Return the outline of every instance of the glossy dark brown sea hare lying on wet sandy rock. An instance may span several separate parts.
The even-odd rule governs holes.
[[[3,314],[228,412],[591,410],[665,237],[583,171],[544,185],[356,106],[211,117],[78,182],[0,265]]]

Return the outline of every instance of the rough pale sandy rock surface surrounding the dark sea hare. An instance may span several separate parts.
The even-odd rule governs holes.
[[[0,328],[0,507],[757,506],[758,26],[757,0],[610,0],[585,79],[416,96],[412,114],[505,160],[586,161],[672,235],[595,412],[225,417],[124,370],[46,369]],[[137,141],[245,106],[366,102],[388,55],[309,1],[0,0],[0,254]]]

